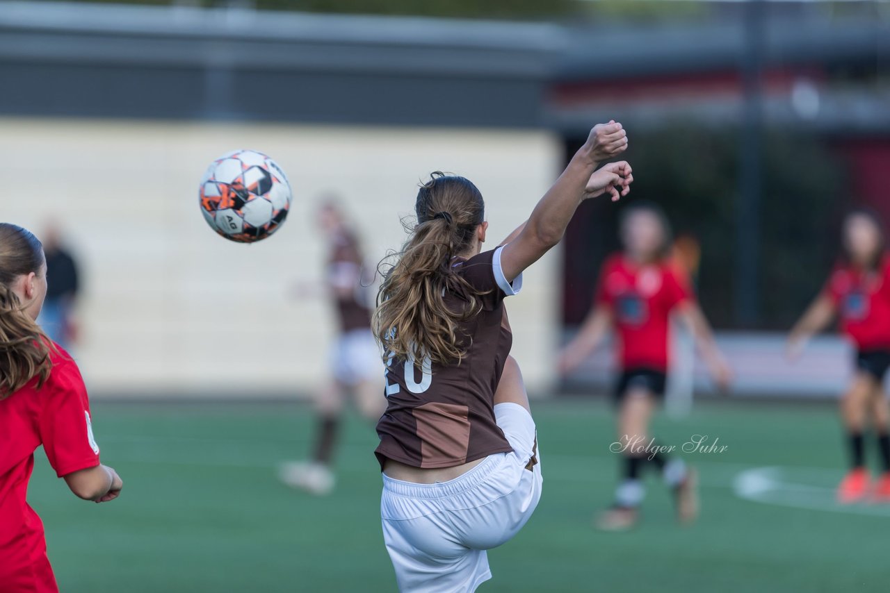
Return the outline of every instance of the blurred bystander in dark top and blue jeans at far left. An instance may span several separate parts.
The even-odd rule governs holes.
[[[53,341],[63,349],[69,349],[77,340],[74,322],[75,301],[80,288],[77,261],[63,244],[60,229],[52,222],[44,229],[43,244],[46,273],[51,281],[37,323]]]

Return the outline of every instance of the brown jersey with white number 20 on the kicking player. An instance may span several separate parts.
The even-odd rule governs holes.
[[[495,421],[494,394],[513,344],[504,298],[519,292],[522,277],[506,281],[499,247],[454,265],[477,293],[457,288],[446,293],[446,304],[463,309],[473,299],[481,303],[479,312],[457,327],[465,357],[459,364],[440,365],[390,354],[388,406],[377,423],[381,468],[386,458],[415,468],[451,468],[513,450]]]

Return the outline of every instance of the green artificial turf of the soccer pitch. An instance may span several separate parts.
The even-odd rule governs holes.
[[[685,455],[700,471],[696,525],[676,525],[651,476],[643,522],[629,533],[591,528],[618,475],[611,409],[572,400],[534,413],[544,495],[522,532],[490,552],[494,578],[480,591],[890,590],[890,505],[832,501],[844,452],[829,406],[720,403],[660,418],[663,444],[705,434],[727,449]],[[376,436],[357,418],[344,427],[335,493],[313,498],[276,477],[280,461],[309,448],[306,406],[97,402],[93,417],[102,459],[125,481],[120,499],[77,500],[42,451],[30,486],[61,591],[395,590]],[[765,466],[812,486],[801,501],[815,496],[815,508],[797,505],[794,492],[781,506],[739,498],[733,480]]]

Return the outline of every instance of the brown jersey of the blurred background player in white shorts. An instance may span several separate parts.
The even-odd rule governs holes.
[[[355,236],[348,231],[337,233],[328,256],[328,285],[344,333],[371,326],[370,299],[368,287],[362,282],[362,263]]]

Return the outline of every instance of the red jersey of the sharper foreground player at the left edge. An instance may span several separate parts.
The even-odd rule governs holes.
[[[26,500],[36,448],[44,445],[59,477],[99,465],[84,380],[59,351],[42,388],[35,379],[0,400],[0,591],[59,590],[43,524]]]

